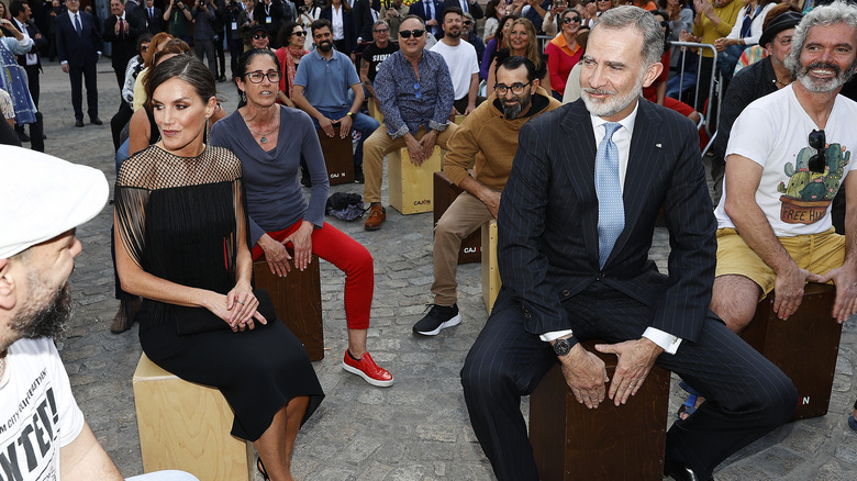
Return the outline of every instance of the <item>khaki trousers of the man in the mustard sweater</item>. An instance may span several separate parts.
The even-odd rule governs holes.
[[[493,219],[482,201],[461,192],[444,212],[434,228],[434,303],[453,305],[458,300],[455,271],[461,240]]]

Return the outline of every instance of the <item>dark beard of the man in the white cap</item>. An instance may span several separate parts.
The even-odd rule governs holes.
[[[68,283],[52,293],[36,273],[31,272],[27,281],[30,299],[27,305],[12,318],[12,331],[27,339],[49,337],[56,340],[71,317],[71,291]]]

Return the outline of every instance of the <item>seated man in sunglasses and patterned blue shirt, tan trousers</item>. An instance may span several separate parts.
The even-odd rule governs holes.
[[[425,49],[425,22],[408,15],[399,26],[400,51],[390,55],[375,77],[375,96],[386,128],[378,128],[364,145],[363,197],[369,202],[367,231],[381,228],[387,211],[381,206],[383,156],[408,147],[415,166],[432,156],[435,144],[446,148],[455,124],[453,80],[444,58]]]

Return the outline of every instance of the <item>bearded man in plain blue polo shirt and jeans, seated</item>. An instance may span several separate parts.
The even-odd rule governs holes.
[[[354,153],[354,180],[363,183],[363,142],[381,124],[360,113],[363,86],[350,58],[333,48],[331,22],[319,19],[312,22],[315,49],[301,59],[294,74],[292,101],[309,113],[316,128],[329,137],[334,135],[334,124],[340,124],[340,135],[350,135],[352,127],[361,134]],[[354,97],[348,94],[350,89]]]

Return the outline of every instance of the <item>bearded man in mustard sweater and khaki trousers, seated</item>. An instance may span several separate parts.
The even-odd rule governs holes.
[[[461,239],[497,219],[517,131],[530,119],[561,104],[538,86],[535,66],[525,57],[509,57],[497,68],[496,94],[465,119],[449,139],[444,172],[464,192],[437,221],[434,231],[434,304],[413,332],[424,336],[461,322],[456,305],[455,272]],[[468,169],[475,169],[470,176]]]

